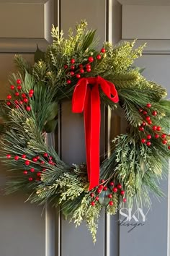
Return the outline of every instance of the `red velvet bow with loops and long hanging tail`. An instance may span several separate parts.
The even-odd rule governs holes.
[[[100,98],[99,85],[107,97],[117,103],[117,90],[112,82],[102,77],[84,77],[77,82],[73,92],[72,111],[84,111],[86,141],[86,165],[89,190],[99,185],[99,136],[100,136]]]

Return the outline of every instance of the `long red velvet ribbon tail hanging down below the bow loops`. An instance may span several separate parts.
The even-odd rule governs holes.
[[[98,85],[86,91],[84,125],[89,190],[99,185],[100,98]]]

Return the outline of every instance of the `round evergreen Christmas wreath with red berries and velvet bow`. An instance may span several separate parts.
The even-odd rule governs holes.
[[[31,202],[60,205],[76,226],[86,221],[94,242],[103,207],[115,214],[126,201],[149,205],[150,191],[163,195],[158,179],[167,173],[170,155],[166,90],[133,66],[144,46],[105,42],[98,51],[95,32],[81,22],[66,39],[53,27],[53,43],[45,53],[37,48],[33,66],[16,56],[19,73],[11,75],[0,111],[1,161],[12,171],[6,193],[22,190]],[[46,142],[66,98],[72,98],[73,112],[84,111],[86,165],[69,166]],[[122,108],[127,129],[99,166],[101,102]]]

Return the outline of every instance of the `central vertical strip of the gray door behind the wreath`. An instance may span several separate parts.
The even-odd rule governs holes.
[[[75,9],[76,7],[76,9]],[[68,27],[86,19],[89,27],[97,28],[100,42],[106,39],[106,1],[66,1],[61,2],[61,28],[64,33]],[[102,109],[101,154],[104,153],[104,108]],[[63,103],[61,108],[61,155],[70,164],[86,161],[84,147],[84,117],[82,114],[71,113],[71,103]],[[97,243],[93,244],[91,234],[83,223],[75,228],[74,223],[68,223],[61,218],[61,256],[104,255],[105,215],[101,213]]]

